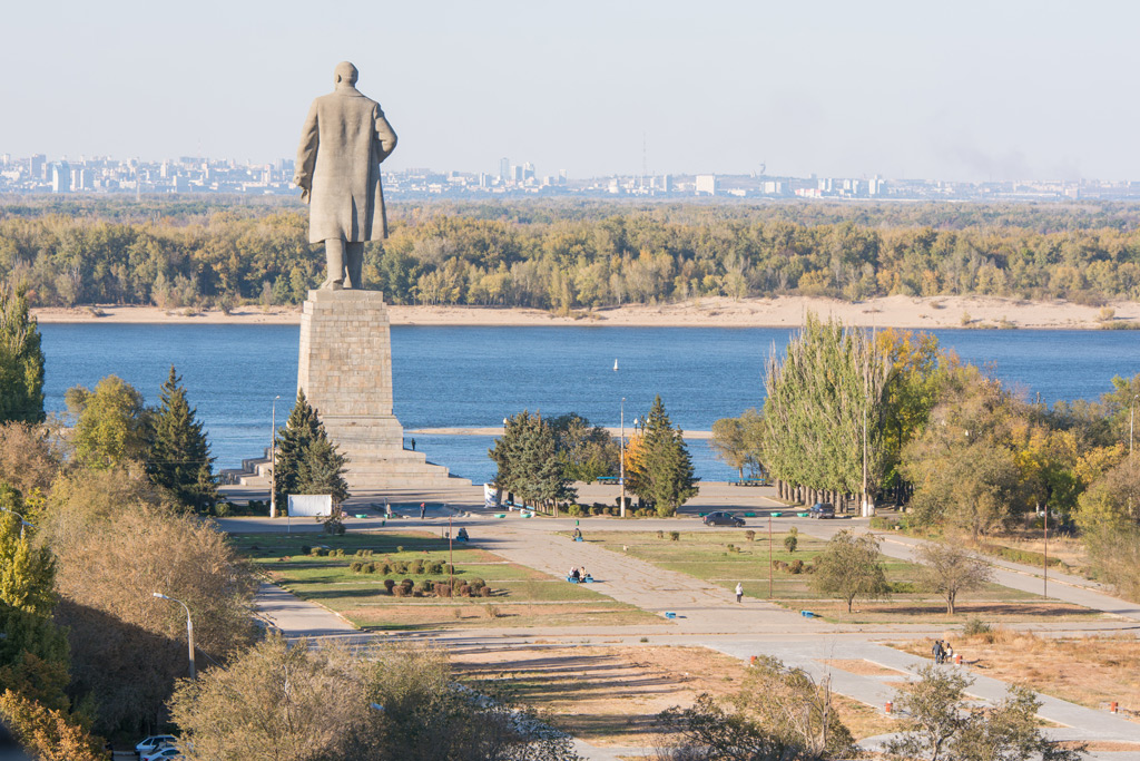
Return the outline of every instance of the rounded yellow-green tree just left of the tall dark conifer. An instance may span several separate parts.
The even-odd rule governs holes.
[[[146,458],[149,424],[142,395],[123,379],[107,375],[95,391],[73,387],[67,389],[66,400],[78,418],[72,435],[78,464],[109,468]]]

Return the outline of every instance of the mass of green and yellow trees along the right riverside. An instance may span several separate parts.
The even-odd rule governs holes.
[[[893,502],[913,525],[975,544],[1048,511],[1081,534],[1096,573],[1140,599],[1140,374],[1109,386],[1098,402],[1048,407],[929,334],[809,315],[769,357],[763,408],[717,421],[712,446],[790,502]]]

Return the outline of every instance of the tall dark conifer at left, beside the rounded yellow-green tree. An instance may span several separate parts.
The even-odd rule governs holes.
[[[170,489],[178,501],[203,512],[218,501],[210,444],[186,399],[182,379],[170,366],[162,402],[154,415],[154,436],[146,470],[150,480]]]

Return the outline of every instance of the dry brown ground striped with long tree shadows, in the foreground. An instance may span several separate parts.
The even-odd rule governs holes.
[[[551,721],[602,746],[652,747],[654,720],[668,707],[690,706],[701,693],[728,697],[747,665],[700,647],[528,647],[456,653],[451,664],[465,681],[512,680],[512,697]],[[856,737],[889,731],[891,720],[871,706],[836,696]]]

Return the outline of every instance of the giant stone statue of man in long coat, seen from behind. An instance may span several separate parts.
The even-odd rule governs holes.
[[[380,162],[396,148],[396,132],[380,104],[356,89],[357,67],[336,64],[336,89],[312,102],[301,131],[293,183],[309,203],[309,242],[325,242],[323,289],[359,289],[364,242],[388,237]]]

